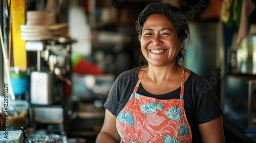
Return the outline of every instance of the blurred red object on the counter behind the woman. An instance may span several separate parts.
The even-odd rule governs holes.
[[[103,69],[85,59],[80,59],[73,71],[77,74],[104,74]]]

